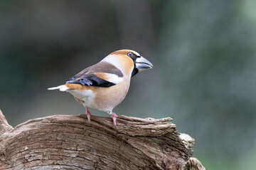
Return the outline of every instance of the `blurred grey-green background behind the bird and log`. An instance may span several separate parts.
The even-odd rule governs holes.
[[[85,113],[70,94],[46,89],[132,49],[154,69],[132,79],[115,113],[174,118],[206,169],[255,169],[255,8],[253,0],[0,1],[0,108],[13,126]]]

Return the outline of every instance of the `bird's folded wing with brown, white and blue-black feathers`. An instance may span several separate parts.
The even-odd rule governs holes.
[[[122,81],[124,75],[113,64],[99,62],[68,79],[66,84],[110,87]]]

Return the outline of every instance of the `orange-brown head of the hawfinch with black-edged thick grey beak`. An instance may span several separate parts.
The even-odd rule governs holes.
[[[110,62],[131,77],[134,77],[138,72],[153,68],[153,64],[149,60],[146,60],[134,50],[117,50],[102,61]]]

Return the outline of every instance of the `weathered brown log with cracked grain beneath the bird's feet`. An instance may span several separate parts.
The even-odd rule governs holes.
[[[0,111],[0,169],[200,169],[171,118],[52,115],[12,128]]]

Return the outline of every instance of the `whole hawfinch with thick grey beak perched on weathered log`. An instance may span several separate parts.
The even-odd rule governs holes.
[[[112,115],[116,125],[117,115],[112,110],[127,95],[131,78],[138,72],[152,67],[151,62],[138,52],[118,50],[71,77],[65,84],[48,90],[59,89],[72,94],[78,103],[85,106],[89,123],[91,114],[88,108],[97,108]]]

